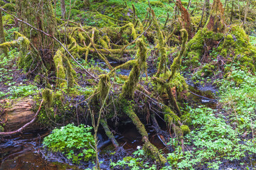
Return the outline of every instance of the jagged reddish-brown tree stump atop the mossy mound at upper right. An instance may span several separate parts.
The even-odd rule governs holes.
[[[220,0],[214,0],[206,27],[215,33],[225,33],[224,8]]]

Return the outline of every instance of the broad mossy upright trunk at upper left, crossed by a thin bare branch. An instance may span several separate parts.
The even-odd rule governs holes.
[[[16,0],[16,13],[18,18],[22,18],[31,26],[43,30],[49,35],[55,35],[56,22],[51,0]],[[40,69],[37,65],[39,61],[43,61],[48,70],[54,70],[55,41],[53,38],[31,29],[24,23],[19,23],[18,28],[19,32],[25,35],[37,50],[37,52],[33,52],[33,56],[20,57],[18,66],[25,69],[26,72],[30,72],[35,68]],[[41,57],[41,60],[38,57]]]

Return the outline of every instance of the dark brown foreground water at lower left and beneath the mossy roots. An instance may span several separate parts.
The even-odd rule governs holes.
[[[123,146],[129,154],[132,154],[138,146],[142,146],[142,137],[140,137],[136,128],[127,125],[120,137],[117,137],[119,145]],[[14,139],[2,139],[0,145],[0,170],[15,169],[80,169],[78,166],[72,166],[60,162],[51,162],[43,157],[41,153],[41,140],[48,135],[49,132],[31,132],[28,134],[18,135]],[[150,141],[159,149],[164,149],[157,135],[149,134]],[[107,145],[102,147],[100,154],[114,151],[114,147],[109,141],[105,141]],[[102,166],[108,169],[110,159],[101,158]],[[90,167],[92,164],[90,165]]]

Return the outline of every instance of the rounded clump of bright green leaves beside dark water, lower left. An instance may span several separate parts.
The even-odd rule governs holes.
[[[43,146],[51,152],[61,152],[75,164],[88,161],[95,157],[95,150],[90,146],[94,143],[90,130],[92,127],[85,125],[65,125],[44,138]]]

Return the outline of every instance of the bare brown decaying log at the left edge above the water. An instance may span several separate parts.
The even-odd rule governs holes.
[[[13,135],[28,128],[28,125],[35,122],[36,117],[41,110],[42,104],[43,100],[41,101],[38,111],[35,114],[32,111],[33,100],[31,98],[26,98],[14,103],[14,105],[7,109],[4,113],[4,116],[7,118],[5,129],[8,132],[0,132],[0,135]],[[35,130],[35,126],[33,126],[33,130]]]

